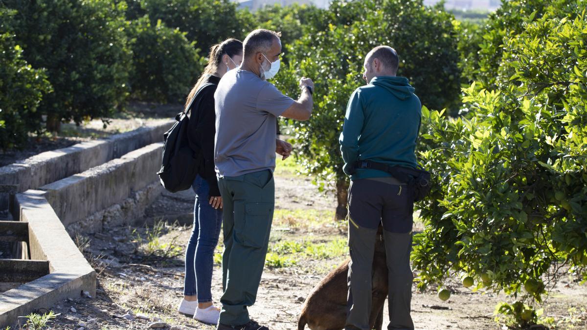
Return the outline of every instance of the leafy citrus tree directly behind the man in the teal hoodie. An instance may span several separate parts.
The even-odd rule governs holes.
[[[334,1],[323,14],[325,29],[316,29],[286,46],[289,66],[275,83],[298,95],[296,78],[316,84],[314,112],[307,122],[292,122],[297,154],[321,189],[336,189],[336,218],[346,216],[348,178],[342,171],[338,137],[346,105],[362,80],[364,56],[389,45],[400,56],[398,75],[406,76],[424,105],[456,109],[460,90],[453,16],[421,1]],[[333,186],[328,186],[334,183]]]

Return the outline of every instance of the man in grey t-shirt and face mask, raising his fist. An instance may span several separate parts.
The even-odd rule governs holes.
[[[289,143],[276,139],[277,117],[307,120],[313,83],[299,81],[293,100],[266,81],[279,70],[280,33],[255,30],[244,41],[241,66],[220,80],[215,92],[214,161],[224,202],[222,309],[218,330],[268,330],[249,318],[254,304],[275,205],[275,153],[286,159]]]

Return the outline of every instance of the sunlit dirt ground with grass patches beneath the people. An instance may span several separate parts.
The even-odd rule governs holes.
[[[257,302],[249,312],[270,329],[291,330],[297,328],[303,299],[347,257],[347,228],[332,220],[332,194],[319,194],[311,180],[289,169],[276,171],[275,179],[270,252]],[[191,234],[193,200],[191,191],[164,193],[134,226],[76,237],[96,269],[97,294],[39,311],[58,314],[50,328],[147,329],[164,322],[167,329],[215,329],[176,312],[183,297],[183,254]],[[417,228],[421,230],[421,224],[416,223]],[[288,254],[287,247],[294,245],[297,253]],[[222,293],[221,251],[220,243],[212,279],[212,297],[217,305]],[[495,305],[508,301],[503,294],[473,292],[456,278],[448,288],[453,294],[443,302],[433,290],[417,292],[414,285],[411,315],[416,329],[508,329],[504,321],[495,321],[494,315]],[[542,306],[544,315],[553,318],[553,329],[587,329],[586,307],[587,287],[572,278],[561,281]],[[384,310],[386,325],[387,307]]]

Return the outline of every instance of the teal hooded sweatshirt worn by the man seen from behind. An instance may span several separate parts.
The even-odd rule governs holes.
[[[350,96],[339,139],[345,173],[351,180],[391,176],[379,170],[355,170],[358,160],[415,168],[421,116],[420,99],[406,78],[375,77],[357,88]]]

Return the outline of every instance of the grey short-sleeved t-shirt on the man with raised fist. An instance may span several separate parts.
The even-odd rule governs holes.
[[[214,94],[218,177],[275,169],[276,117],[295,101],[247,70],[230,70]]]

